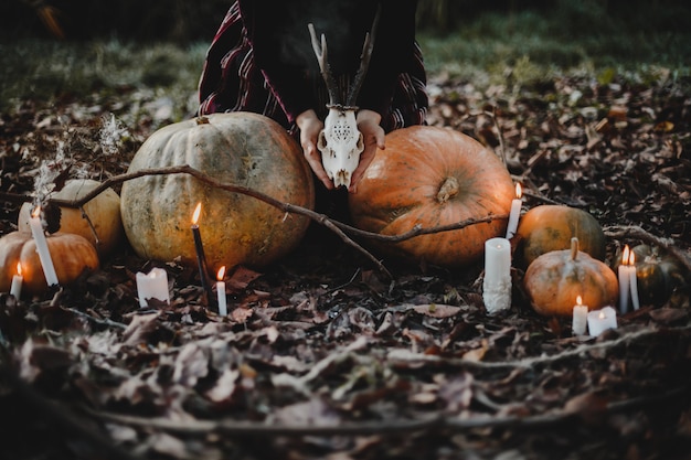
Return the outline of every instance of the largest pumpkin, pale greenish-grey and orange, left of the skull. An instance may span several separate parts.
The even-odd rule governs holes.
[[[283,203],[313,207],[311,170],[299,146],[262,115],[213,114],[163,127],[141,145],[128,172],[182,164]],[[189,174],[146,175],[125,182],[120,192],[123,224],[136,253],[194,265],[191,224],[199,202],[198,224],[211,272],[222,265],[266,266],[290,252],[309,224],[307,217]]]

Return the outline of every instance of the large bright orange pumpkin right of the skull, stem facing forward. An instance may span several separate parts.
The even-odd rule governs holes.
[[[396,235],[416,225],[429,228],[506,215],[514,195],[504,164],[480,142],[447,128],[412,126],[386,136],[386,148],[378,150],[349,206],[359,228]],[[496,220],[395,244],[371,244],[405,261],[460,267],[477,260],[485,242],[503,236],[506,228],[507,220]]]

